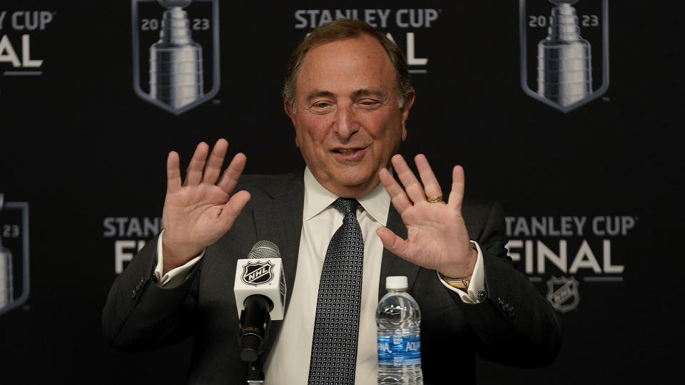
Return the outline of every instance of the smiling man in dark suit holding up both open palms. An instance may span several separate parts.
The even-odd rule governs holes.
[[[220,175],[228,144],[219,140],[211,153],[198,145],[181,183],[178,155],[170,153],[163,233],[116,279],[103,311],[111,344],[146,349],[194,336],[189,383],[244,383],[235,260],[258,240],[271,240],[293,290],[285,320],[273,324],[265,347],[267,380],[307,382],[315,273],[333,234],[328,227],[340,225],[327,219],[340,215],[330,203],[343,197],[360,202],[364,234],[355,383],[375,383],[372,308],[388,275],[407,276],[420,304],[425,384],[473,382],[474,351],[505,364],[549,364],[559,349],[559,324],[512,267],[499,205],[462,204],[459,166],[442,202],[425,156],[415,158],[419,180],[395,155],[415,98],[399,48],[360,21],[335,21],[296,48],[289,73],[284,108],[304,173],[241,176],[245,155],[238,154]],[[336,375],[334,384],[352,382]]]

